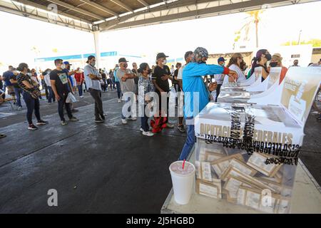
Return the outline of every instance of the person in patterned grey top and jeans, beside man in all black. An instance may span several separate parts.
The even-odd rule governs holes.
[[[153,136],[154,133],[151,133],[148,125],[148,116],[146,115],[146,106],[151,104],[151,98],[148,96],[148,93],[154,91],[154,86],[152,81],[148,78],[151,74],[151,69],[148,66],[148,63],[141,63],[138,69],[139,78],[138,78],[138,107],[143,108],[144,116],[141,117],[141,132],[146,136]],[[149,108],[151,110],[151,108]]]

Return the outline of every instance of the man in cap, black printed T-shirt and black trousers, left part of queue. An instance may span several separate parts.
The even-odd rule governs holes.
[[[66,103],[66,99],[68,98],[68,93],[71,93],[70,88],[71,82],[69,81],[68,75],[66,71],[63,71],[65,65],[63,64],[63,60],[57,58],[55,61],[56,69],[51,71],[50,73],[50,83],[51,88],[54,91],[54,95],[56,100],[58,101],[58,114],[61,120],[61,125],[67,125],[68,122],[65,120],[63,115],[63,108],[66,107],[67,115],[69,121],[75,122],[78,121],[76,117],[71,113],[70,103]]]

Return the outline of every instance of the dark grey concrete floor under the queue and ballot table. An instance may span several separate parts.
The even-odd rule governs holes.
[[[140,121],[121,124],[115,91],[103,93],[108,113],[93,122],[91,97],[76,104],[80,119],[61,126],[56,104],[41,101],[49,125],[26,130],[26,110],[0,106],[1,213],[159,213],[171,188],[168,166],[177,160],[185,134],[164,130],[146,138]],[[173,120],[175,122],[175,120]],[[311,116],[301,159],[321,182],[320,122]],[[47,191],[58,191],[58,207],[47,205]]]

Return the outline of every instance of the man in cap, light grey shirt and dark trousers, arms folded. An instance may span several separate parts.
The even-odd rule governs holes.
[[[95,122],[102,123],[105,121],[105,116],[103,115],[103,101],[101,100],[101,75],[98,72],[96,66],[95,56],[88,56],[88,63],[85,68],[83,68],[83,73],[85,75],[86,86],[95,100]]]

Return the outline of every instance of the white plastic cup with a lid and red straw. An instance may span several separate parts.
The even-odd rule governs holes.
[[[170,164],[170,175],[172,176],[174,199],[178,204],[188,204],[193,192],[195,181],[195,166],[190,162],[177,161]]]

